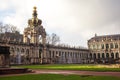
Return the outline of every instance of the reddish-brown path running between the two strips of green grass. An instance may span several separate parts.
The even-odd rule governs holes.
[[[63,75],[76,74],[76,75],[120,77],[120,72],[95,72],[95,71],[71,71],[71,70],[33,70],[33,73],[7,74],[7,75],[0,75],[0,77],[18,76],[18,75],[25,75],[25,74],[63,74]]]

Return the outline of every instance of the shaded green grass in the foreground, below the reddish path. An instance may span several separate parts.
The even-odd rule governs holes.
[[[21,76],[0,77],[0,80],[120,80],[120,78],[111,77],[111,76],[28,74],[28,75],[21,75]]]

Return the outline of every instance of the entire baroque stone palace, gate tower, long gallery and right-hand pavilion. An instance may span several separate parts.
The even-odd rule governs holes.
[[[46,44],[46,31],[37,18],[36,7],[24,33],[0,34],[0,67],[8,64],[120,63],[120,34],[97,36],[87,48]],[[42,42],[39,42],[41,37]],[[5,50],[5,51],[4,51]],[[9,58],[10,56],[10,58]],[[3,63],[6,63],[3,65]]]

